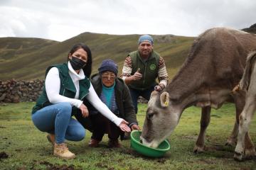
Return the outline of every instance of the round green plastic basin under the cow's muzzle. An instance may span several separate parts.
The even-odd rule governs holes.
[[[161,142],[157,148],[146,147],[140,142],[140,135],[142,135],[142,132],[139,130],[132,130],[131,132],[131,147],[140,154],[147,157],[162,157],[170,149],[170,144],[167,140]]]

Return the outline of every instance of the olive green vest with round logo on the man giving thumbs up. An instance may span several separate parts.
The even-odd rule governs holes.
[[[151,86],[156,86],[156,77],[158,77],[159,71],[159,54],[152,51],[146,61],[142,60],[138,50],[129,53],[128,56],[132,59],[132,75],[137,72],[138,69],[140,69],[139,72],[142,74],[142,79],[133,81],[128,86],[137,90],[146,90],[151,88]]]

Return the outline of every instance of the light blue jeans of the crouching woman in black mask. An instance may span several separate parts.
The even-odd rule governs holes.
[[[71,118],[70,103],[56,103],[33,113],[32,120],[36,128],[42,132],[55,134],[55,142],[66,140],[80,141],[85,137],[85,129],[77,120]]]

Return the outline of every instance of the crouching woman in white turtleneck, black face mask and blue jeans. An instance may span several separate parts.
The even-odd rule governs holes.
[[[75,114],[84,118],[88,116],[89,112],[83,103],[85,99],[113,122],[118,130],[130,132],[127,122],[114,115],[98,98],[87,78],[91,72],[91,51],[82,43],[74,45],[68,52],[68,62],[46,69],[43,93],[33,107],[32,120],[38,130],[48,132],[47,137],[53,145],[55,156],[65,159],[75,157],[68,150],[65,140],[80,141],[85,137],[85,129],[72,118]]]

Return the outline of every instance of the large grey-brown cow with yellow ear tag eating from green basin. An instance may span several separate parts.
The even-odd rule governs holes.
[[[151,96],[148,110],[157,114],[150,120],[150,129],[145,120],[142,142],[149,147],[157,147],[176,128],[183,110],[196,105],[202,108],[202,113],[201,130],[194,152],[203,152],[210,108],[220,108],[225,102],[233,102],[236,122],[228,144],[234,145],[239,115],[245,106],[245,93],[239,91],[233,94],[230,91],[242,78],[246,57],[252,50],[256,50],[256,35],[240,30],[212,28],[199,35],[181,69],[164,89],[163,93],[169,93],[169,106],[159,106],[159,100],[163,98]],[[245,149],[253,146],[248,134],[245,135],[245,143]]]

